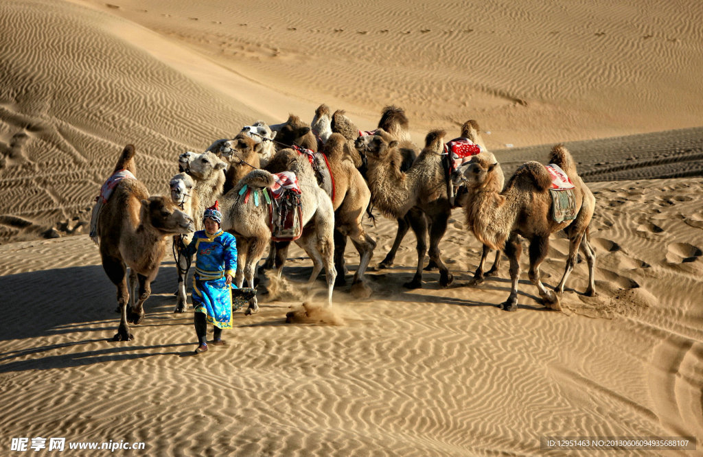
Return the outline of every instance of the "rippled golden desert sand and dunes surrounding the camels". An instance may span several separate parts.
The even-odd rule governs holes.
[[[695,0],[572,4],[5,0],[0,4],[0,454],[16,439],[141,442],[124,455],[505,455],[541,437],[703,439],[703,9]],[[455,281],[406,290],[415,240],[356,300],[289,252],[285,279],[227,347],[192,356],[167,255],[135,339],[113,342],[115,288],[87,236],[93,198],[127,143],[166,194],[177,157],[246,124],[309,122],[327,103],[373,129],[406,110],[415,143],[475,119],[506,176],[565,143],[595,194],[585,262],[538,300],[495,305],[508,262],[468,281],[481,245],[454,210]],[[392,245],[395,222],[366,228]],[[544,281],[568,243],[552,237]],[[349,246],[350,274],[359,261]],[[351,277],[351,276],[350,276]],[[302,316],[302,304],[309,316]],[[298,311],[285,323],[289,311]],[[14,441],[13,441],[14,440]],[[588,455],[611,451],[571,451]],[[102,455],[100,454],[100,455]]]

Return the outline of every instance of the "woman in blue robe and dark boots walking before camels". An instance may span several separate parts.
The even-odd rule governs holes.
[[[205,230],[195,232],[187,247],[188,256],[195,254],[193,275],[193,308],[198,347],[195,354],[207,351],[207,323],[212,323],[212,345],[224,345],[222,329],[232,328],[232,288],[237,271],[237,240],[222,231],[222,213],[218,204],[207,208],[202,223]]]

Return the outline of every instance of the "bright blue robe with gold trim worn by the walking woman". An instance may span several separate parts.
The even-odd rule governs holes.
[[[207,321],[218,328],[232,328],[232,288],[225,284],[225,273],[233,278],[237,270],[237,240],[231,233],[218,231],[208,236],[195,232],[188,245],[188,256],[196,254],[193,275],[193,307],[205,313]]]

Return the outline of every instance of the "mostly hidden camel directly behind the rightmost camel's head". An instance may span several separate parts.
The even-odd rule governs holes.
[[[497,179],[498,186],[503,189],[503,186],[505,185],[505,175],[503,174],[503,169],[501,168],[501,164],[498,163],[496,156],[486,148],[486,144],[484,143],[483,137],[480,134],[478,122],[476,122],[475,120],[467,120],[466,122],[464,122],[464,124],[461,126],[461,138],[468,139],[475,145],[478,145],[479,148],[481,148],[481,152],[478,155],[481,157],[485,157],[485,159],[489,163],[495,164],[491,173],[495,174],[495,179]],[[467,169],[468,165],[470,165],[470,162],[464,162],[456,170],[454,170],[450,176],[451,185],[454,186],[453,195],[456,195],[455,205],[457,207],[467,207],[467,205],[470,204],[467,201],[468,193],[464,184],[464,172]],[[470,281],[471,285],[482,283],[484,281],[485,276],[496,276],[498,274],[498,269],[501,266],[502,252],[501,250],[496,250],[496,259],[493,262],[493,266],[489,271],[485,271],[486,258],[488,257],[490,252],[491,248],[488,247],[488,245],[483,245],[481,260],[479,261],[479,265],[477,266],[476,271],[474,272],[474,277]]]

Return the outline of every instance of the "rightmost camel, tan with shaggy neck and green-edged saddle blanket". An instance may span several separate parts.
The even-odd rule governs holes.
[[[517,309],[517,281],[522,252],[520,236],[529,240],[529,279],[536,285],[547,307],[561,309],[557,295],[542,284],[539,266],[547,255],[550,234],[562,228],[569,237],[569,257],[564,276],[555,290],[564,292],[564,285],[574,269],[580,246],[588,261],[586,295],[595,294],[595,252],[588,240],[588,224],[591,223],[595,210],[595,198],[576,173],[574,159],[567,148],[562,145],[552,148],[549,162],[564,170],[574,184],[576,219],[561,222],[554,220],[549,191],[551,177],[546,167],[539,162],[521,165],[502,192],[496,174],[492,173],[494,164],[486,160],[486,157],[473,158],[464,173],[470,202],[465,209],[468,226],[479,241],[492,249],[504,249],[510,259],[510,296],[499,305],[506,311]]]

